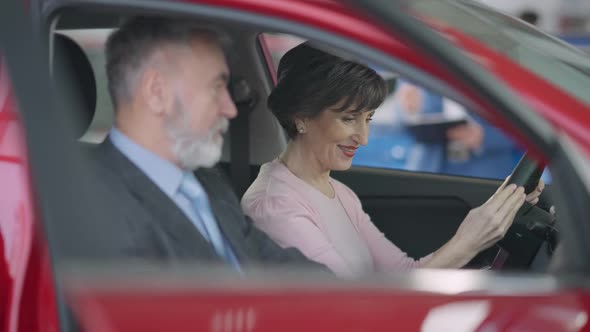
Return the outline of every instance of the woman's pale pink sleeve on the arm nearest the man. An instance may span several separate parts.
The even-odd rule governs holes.
[[[322,230],[313,212],[298,204],[294,197],[268,197],[259,213],[250,216],[256,227],[283,248],[299,249],[310,260],[326,265],[342,278],[352,278],[352,272]]]

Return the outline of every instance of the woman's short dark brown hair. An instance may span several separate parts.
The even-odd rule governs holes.
[[[374,110],[387,94],[385,81],[375,70],[320,51],[307,42],[285,53],[277,76],[278,84],[267,106],[289,138],[298,135],[297,116],[313,118],[336,106],[338,112],[351,107]]]

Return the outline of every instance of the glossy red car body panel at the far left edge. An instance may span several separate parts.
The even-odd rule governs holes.
[[[16,105],[0,61],[0,331],[58,331],[53,278]]]

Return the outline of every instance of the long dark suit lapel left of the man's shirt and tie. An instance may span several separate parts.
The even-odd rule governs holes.
[[[209,242],[176,204],[147,175],[125,157],[109,139],[100,147],[105,160],[119,174],[131,194],[170,238],[182,258],[220,260]]]

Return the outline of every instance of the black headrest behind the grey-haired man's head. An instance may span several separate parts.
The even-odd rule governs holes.
[[[53,74],[56,82],[65,84],[67,96],[74,98],[72,118],[76,138],[84,135],[96,111],[96,80],[84,50],[73,39],[54,35]]]

